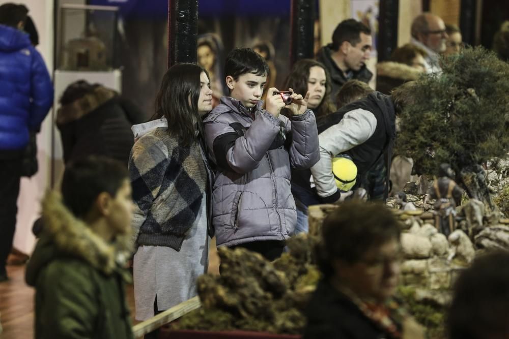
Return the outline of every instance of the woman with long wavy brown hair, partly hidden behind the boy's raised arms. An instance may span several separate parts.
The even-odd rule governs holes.
[[[320,118],[336,110],[332,103],[332,86],[330,76],[322,63],[312,59],[302,59],[295,63],[288,76],[285,88],[292,88],[294,93],[309,91],[307,107]],[[292,194],[297,206],[297,226],[295,234],[307,233],[307,206],[320,203],[316,194],[309,189],[310,170],[292,169]]]

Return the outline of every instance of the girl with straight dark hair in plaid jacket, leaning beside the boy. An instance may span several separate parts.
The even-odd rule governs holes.
[[[137,141],[129,172],[137,320],[195,296],[196,278],[207,272],[212,175],[204,156],[202,116],[211,109],[207,72],[178,64],[162,79],[152,120],[133,126]]]

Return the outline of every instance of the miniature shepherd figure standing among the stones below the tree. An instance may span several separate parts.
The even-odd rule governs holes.
[[[455,230],[456,205],[461,201],[463,190],[453,180],[455,172],[449,164],[441,164],[439,178],[433,182],[429,194],[435,202],[435,226],[438,231],[448,236]]]

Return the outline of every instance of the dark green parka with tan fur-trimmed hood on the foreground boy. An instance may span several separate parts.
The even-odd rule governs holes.
[[[44,230],[26,267],[36,288],[35,337],[133,338],[123,265],[130,235],[108,243],[74,217],[59,195],[43,202]]]

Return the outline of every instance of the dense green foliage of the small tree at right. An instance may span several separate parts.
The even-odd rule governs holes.
[[[441,163],[461,169],[506,156],[509,149],[509,65],[482,47],[442,59],[443,74],[405,88],[396,149],[419,174]]]

